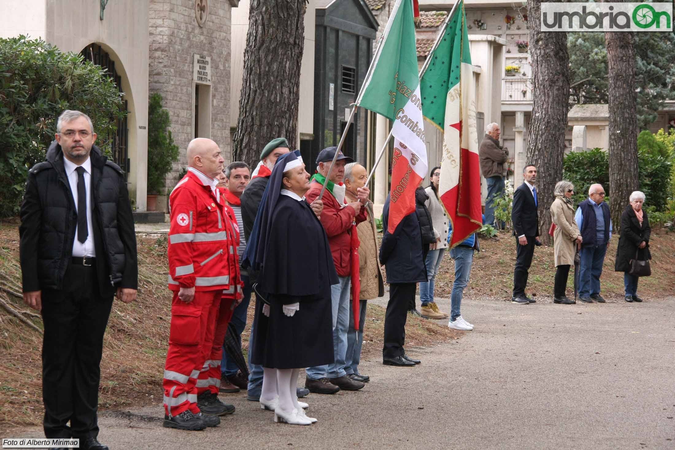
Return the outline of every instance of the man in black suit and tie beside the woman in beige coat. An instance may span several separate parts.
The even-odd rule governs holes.
[[[513,274],[513,298],[512,303],[529,304],[535,303],[525,295],[527,285],[527,271],[532,264],[532,256],[535,253],[535,245],[541,245],[539,236],[539,215],[537,215],[537,167],[526,165],[522,173],[523,184],[513,194],[513,208],[511,221],[513,234],[516,236],[516,269]]]

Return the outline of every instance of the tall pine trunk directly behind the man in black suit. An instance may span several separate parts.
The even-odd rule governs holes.
[[[555,200],[553,189],[562,179],[570,95],[567,33],[541,32],[541,0],[528,0],[527,8],[534,102],[526,163],[537,167],[539,239],[549,245],[549,208]]]

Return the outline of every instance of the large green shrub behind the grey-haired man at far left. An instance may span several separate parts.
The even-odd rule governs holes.
[[[101,66],[44,40],[0,38],[0,217],[18,213],[28,169],[44,161],[63,110],[89,115],[97,145],[109,152],[121,106]]]

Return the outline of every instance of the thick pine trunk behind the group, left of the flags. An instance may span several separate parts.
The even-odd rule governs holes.
[[[255,167],[274,138],[298,139],[306,0],[251,0],[233,161]]]

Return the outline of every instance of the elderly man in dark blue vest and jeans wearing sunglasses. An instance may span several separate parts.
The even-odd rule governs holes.
[[[604,303],[605,299],[600,296],[600,275],[607,244],[612,239],[612,219],[601,184],[591,185],[589,198],[579,203],[574,220],[583,239],[579,255],[579,300],[585,303],[593,303],[593,300]]]

